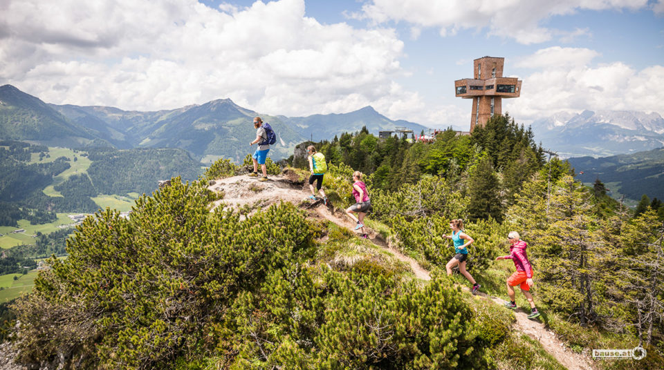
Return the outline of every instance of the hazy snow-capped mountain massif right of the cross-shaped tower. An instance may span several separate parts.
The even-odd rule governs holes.
[[[605,157],[664,146],[664,118],[630,110],[557,113],[531,125],[535,141],[562,157]]]

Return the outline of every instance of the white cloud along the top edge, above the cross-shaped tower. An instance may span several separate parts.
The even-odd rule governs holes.
[[[421,27],[439,28],[441,36],[458,30],[488,28],[488,35],[513,38],[519,43],[548,41],[560,32],[540,26],[553,15],[572,14],[577,10],[638,9],[647,0],[372,0],[362,6],[358,19],[376,23],[405,21]],[[654,12],[662,11],[661,3]]]

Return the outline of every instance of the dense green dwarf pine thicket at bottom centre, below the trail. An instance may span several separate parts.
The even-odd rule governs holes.
[[[237,332],[231,367],[486,367],[473,347],[472,310],[450,286],[446,277],[421,286],[384,275],[277,271],[228,315],[228,332]]]

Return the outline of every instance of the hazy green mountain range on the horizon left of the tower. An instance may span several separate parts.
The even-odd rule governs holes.
[[[295,145],[308,139],[331,139],[366,126],[369,132],[425,126],[394,121],[371,106],[344,114],[308,117],[271,116],[217,99],[173,110],[140,112],[107,106],[46,104],[11,85],[0,86],[0,137],[48,146],[82,148],[183,148],[203,163],[219,157],[241,160],[252,152],[253,117],[261,116],[277,133],[270,157],[288,157]],[[255,148],[255,147],[254,147]]]

